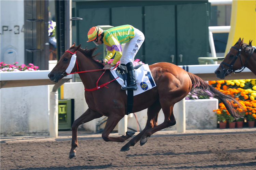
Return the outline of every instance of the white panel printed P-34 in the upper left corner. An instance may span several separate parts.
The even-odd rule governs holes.
[[[0,1],[0,33],[0,62],[24,64],[23,0]]]

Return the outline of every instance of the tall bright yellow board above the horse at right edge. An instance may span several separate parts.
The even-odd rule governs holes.
[[[239,38],[244,38],[244,43],[256,44],[256,1],[233,0],[230,20],[230,31],[226,46],[225,56]],[[225,57],[224,56],[224,57]]]

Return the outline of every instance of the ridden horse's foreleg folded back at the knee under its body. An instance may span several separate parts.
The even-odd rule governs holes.
[[[126,135],[120,136],[120,137],[110,137],[109,134],[113,131],[117,123],[123,118],[123,116],[119,116],[117,114],[110,115],[108,117],[108,120],[106,122],[105,128],[102,132],[102,138],[106,142],[108,141],[114,141],[114,142],[124,142],[126,139],[132,137],[135,132],[126,132]]]

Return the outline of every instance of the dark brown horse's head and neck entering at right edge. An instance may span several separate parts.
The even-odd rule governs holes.
[[[241,72],[247,67],[256,75],[255,66],[256,49],[252,47],[252,41],[249,41],[248,45],[243,43],[243,39],[239,38],[237,43],[231,47],[220,66],[215,70],[215,74],[217,78],[225,79],[230,73]]]

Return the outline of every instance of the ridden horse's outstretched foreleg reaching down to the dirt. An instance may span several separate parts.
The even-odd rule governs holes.
[[[87,111],[81,115],[78,119],[76,119],[72,125],[72,144],[71,144],[71,150],[69,153],[69,158],[72,158],[75,156],[76,151],[75,148],[78,146],[77,144],[77,128],[79,125],[89,122],[93,119],[102,117],[101,114],[98,112],[94,112],[90,109],[87,109]]]

